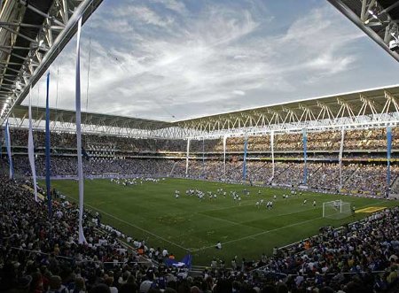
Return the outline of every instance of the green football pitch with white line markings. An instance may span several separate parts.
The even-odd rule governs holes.
[[[42,182],[43,185],[43,182]],[[72,180],[51,181],[51,187],[67,197],[77,199],[78,184]],[[187,189],[200,189],[205,197],[200,200],[187,196]],[[226,196],[210,200],[207,191],[223,189]],[[249,191],[245,195],[244,189]],[[175,190],[180,197],[175,198]],[[231,191],[241,197],[234,200]],[[260,192],[259,192],[260,191]],[[100,212],[102,222],[120,229],[138,240],[145,239],[149,247],[167,248],[181,259],[192,253],[194,265],[209,266],[212,258],[223,258],[230,265],[231,258],[259,259],[270,255],[273,247],[295,243],[318,233],[319,227],[339,227],[360,220],[374,208],[397,205],[397,201],[380,198],[325,195],[302,191],[283,199],[287,189],[249,187],[221,182],[164,179],[158,182],[123,186],[110,180],[86,180],[85,208]],[[277,200],[273,197],[277,196]],[[307,199],[307,204],[303,200]],[[263,199],[261,207],[257,201]],[[356,212],[343,220],[322,218],[322,204],[341,199],[356,206]],[[273,200],[273,209],[265,203]],[[316,200],[317,206],[312,205]],[[366,209],[371,207],[371,209]],[[221,242],[222,250],[215,249]]]

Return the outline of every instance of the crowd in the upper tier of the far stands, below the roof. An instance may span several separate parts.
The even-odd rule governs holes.
[[[27,146],[27,129],[12,128],[12,146]],[[399,127],[392,128],[392,135],[399,135]],[[34,132],[36,146],[44,145],[45,135],[43,131]],[[326,130],[314,131],[307,134],[308,150],[340,150],[341,131]],[[112,142],[112,143],[110,143]],[[75,149],[75,135],[69,133],[51,133],[52,147],[56,149]],[[226,151],[244,151],[245,137],[227,137]],[[303,150],[302,133],[286,133],[274,135],[275,151],[301,151]],[[183,139],[152,139],[131,138],[108,135],[82,135],[82,145],[86,149],[92,147],[112,146],[115,151],[125,152],[184,152],[187,150],[187,142]],[[385,150],[387,147],[387,129],[351,129],[344,131],[344,150]],[[398,140],[393,140],[392,147],[399,147]],[[270,151],[270,135],[249,135],[247,137],[247,150],[249,152]],[[223,139],[191,140],[190,151],[223,152]]]

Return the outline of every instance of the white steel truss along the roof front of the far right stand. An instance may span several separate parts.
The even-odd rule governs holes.
[[[193,128],[206,137],[223,137],[225,135],[263,134],[274,131],[297,132],[301,129],[331,129],[342,127],[378,127],[382,125],[399,125],[398,96],[384,90],[383,96],[369,98],[358,94],[358,99],[352,103],[337,97],[335,105],[317,101],[314,106],[298,104],[296,109],[284,106],[280,110],[267,109],[266,112],[254,110],[241,112],[239,115],[222,115],[219,120],[202,118],[179,123],[180,127]],[[381,99],[384,103],[381,104]],[[335,108],[335,109],[333,109]],[[218,127],[223,126],[223,127]],[[212,129],[212,131],[207,131]],[[200,139],[202,135],[191,138]]]

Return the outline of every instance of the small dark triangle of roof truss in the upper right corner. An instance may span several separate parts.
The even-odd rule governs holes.
[[[399,61],[399,1],[328,1]],[[396,42],[395,49],[389,49],[390,42]]]

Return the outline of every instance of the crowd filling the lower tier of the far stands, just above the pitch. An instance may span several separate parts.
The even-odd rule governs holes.
[[[13,165],[18,173],[30,174],[27,156],[13,156]],[[6,160],[4,160],[6,164]],[[243,178],[243,161],[230,159],[226,161],[225,172],[223,159],[196,158],[190,159],[186,176],[184,158],[108,158],[94,157],[83,161],[83,171],[87,176],[172,176],[206,179],[210,181],[240,182]],[[38,176],[45,174],[43,156],[35,159]],[[52,176],[75,176],[77,159],[72,156],[52,156]],[[298,187],[304,184],[303,161],[277,161],[274,177],[270,160],[246,160],[246,180],[255,184],[273,184],[284,187]],[[325,189],[332,192],[384,196],[388,189],[399,193],[397,181],[399,166],[391,166],[390,186],[387,186],[387,166],[385,164],[350,163],[342,164],[342,181],[340,166],[336,162],[308,162],[306,185],[311,189]],[[396,182],[396,183],[395,183]],[[341,186],[340,186],[341,184]]]

